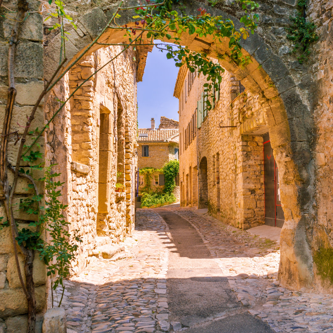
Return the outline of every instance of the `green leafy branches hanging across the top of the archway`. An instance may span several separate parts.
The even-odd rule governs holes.
[[[147,1],[149,3],[149,1]],[[177,11],[171,10],[174,1],[166,1],[164,6],[154,7],[138,7],[136,14],[133,16],[137,19],[136,25],[142,25],[140,30],[148,31],[147,37],[154,39],[172,40],[175,45],[164,44],[163,47],[157,46],[162,52],[167,51],[167,59],[173,59],[177,67],[186,65],[190,72],[195,70],[202,73],[207,80],[204,84],[204,91],[210,96],[212,102],[215,102],[214,88],[217,89],[222,81],[221,74],[224,69],[219,63],[214,63],[207,58],[207,53],[198,53],[189,50],[181,44],[181,35],[183,32],[188,34],[196,34],[198,37],[210,36],[213,43],[218,45],[223,43],[226,37],[229,39],[230,59],[235,64],[243,66],[249,63],[249,56],[243,56],[241,52],[240,40],[246,39],[249,34],[253,34],[257,28],[258,15],[252,11],[259,7],[255,1],[238,0],[237,5],[244,11],[244,15],[240,18],[243,27],[236,29],[232,20],[222,16],[211,16],[204,8],[198,8],[198,15],[178,15]],[[177,1],[175,2],[177,3]],[[133,36],[136,35],[136,28],[128,28],[127,36],[130,42]],[[217,51],[217,46],[216,46]],[[222,58],[222,56],[219,56]],[[212,103],[207,100],[207,109],[212,108]]]

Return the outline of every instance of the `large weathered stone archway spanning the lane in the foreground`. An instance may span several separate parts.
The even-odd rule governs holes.
[[[130,1],[128,6],[136,5]],[[272,2],[274,10],[278,10]],[[202,4],[196,1],[186,7],[189,14],[196,15]],[[71,5],[68,5],[70,9]],[[99,5],[86,12],[77,12],[76,20],[79,31],[70,30],[71,48],[68,58],[74,58],[83,52],[88,43],[94,39],[100,28],[105,26],[115,5]],[[282,8],[282,7],[281,7]],[[292,5],[283,7],[284,15],[293,10]],[[229,15],[235,25],[240,24],[228,7],[209,8],[212,15]],[[122,17],[118,24],[131,25],[132,15]],[[262,35],[264,35],[263,30]],[[52,33],[47,37],[45,48],[45,77],[48,78],[54,68],[60,36]],[[124,41],[121,30],[108,30],[99,42],[120,43]],[[308,216],[311,216],[313,198],[309,189],[313,186],[311,130],[312,116],[307,107],[307,100],[297,87],[295,79],[290,75],[287,63],[278,55],[279,43],[267,43],[259,34],[254,34],[242,41],[243,53],[251,62],[238,67],[228,57],[228,40],[215,45],[209,38],[183,34],[183,41],[191,50],[204,51],[209,56],[220,60],[221,65],[241,80],[241,83],[253,94],[260,95],[259,103],[265,110],[265,120],[269,128],[271,144],[280,170],[281,201],[285,212],[286,223],[281,232],[281,281],[293,287],[309,287],[313,282],[312,253],[310,248],[311,228]],[[94,52],[101,45],[95,45]],[[219,58],[221,59],[221,58]],[[183,178],[184,181],[184,178]],[[183,191],[183,195],[184,195]],[[199,203],[201,208],[201,205]],[[307,231],[309,230],[309,231]]]

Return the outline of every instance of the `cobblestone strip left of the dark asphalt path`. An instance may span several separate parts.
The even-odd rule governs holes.
[[[68,333],[158,333],[169,329],[167,231],[159,214],[138,209],[134,235],[122,242],[126,258],[91,257],[79,276],[65,281],[61,306],[66,309]],[[58,288],[56,299],[61,292]]]

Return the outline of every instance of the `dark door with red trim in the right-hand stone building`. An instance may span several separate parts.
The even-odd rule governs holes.
[[[279,172],[270,145],[269,134],[264,139],[265,224],[282,228],[284,213],[281,206]]]

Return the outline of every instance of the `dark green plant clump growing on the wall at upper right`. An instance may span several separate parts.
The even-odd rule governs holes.
[[[290,17],[294,26],[286,28],[287,38],[293,41],[292,53],[298,53],[297,60],[301,64],[308,59],[310,54],[310,44],[318,40],[316,25],[306,20],[304,16],[306,0],[298,0],[299,11],[295,17]]]

